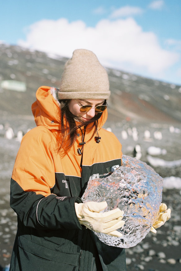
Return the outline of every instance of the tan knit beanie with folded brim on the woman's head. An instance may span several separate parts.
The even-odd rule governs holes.
[[[58,92],[59,99],[108,99],[108,74],[96,55],[77,49],[65,63]]]

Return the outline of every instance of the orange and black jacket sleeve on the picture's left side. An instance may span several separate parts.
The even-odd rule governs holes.
[[[11,208],[28,227],[82,229],[74,203],[78,197],[51,194],[55,184],[52,138],[46,131],[31,130],[21,142],[11,178]]]

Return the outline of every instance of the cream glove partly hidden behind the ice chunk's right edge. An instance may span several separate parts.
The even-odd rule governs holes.
[[[161,203],[160,204],[160,212],[157,216],[157,220],[153,223],[152,227],[151,227],[151,232],[156,233],[156,229],[160,228],[162,225],[165,224],[165,222],[167,220],[170,219],[170,213],[171,210],[167,209],[167,206],[165,203]]]

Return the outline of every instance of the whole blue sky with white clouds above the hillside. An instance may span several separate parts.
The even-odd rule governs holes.
[[[0,41],[181,85],[180,0],[1,1]],[[2,27],[3,26],[3,27]]]

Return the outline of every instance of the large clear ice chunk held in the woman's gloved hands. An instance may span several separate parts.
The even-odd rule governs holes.
[[[124,212],[125,225],[118,229],[123,235],[113,237],[96,233],[105,244],[133,247],[150,231],[156,221],[162,199],[163,179],[146,163],[123,155],[122,166],[113,173],[90,177],[82,201],[106,201],[106,212],[119,208]]]

